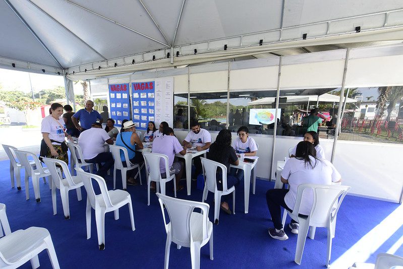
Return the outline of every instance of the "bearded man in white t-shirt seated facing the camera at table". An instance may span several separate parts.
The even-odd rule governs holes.
[[[191,121],[190,127],[192,131],[190,131],[189,134],[185,137],[185,140],[183,140],[182,144],[186,148],[191,148],[193,145],[194,147],[196,147],[197,151],[208,149],[211,145],[210,133],[205,129],[201,129],[197,120]],[[197,176],[202,171],[200,155],[194,157],[193,161],[196,167],[195,178],[197,178]]]

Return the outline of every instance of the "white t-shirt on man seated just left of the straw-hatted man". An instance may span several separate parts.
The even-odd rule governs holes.
[[[110,139],[108,133],[101,128],[90,128],[78,137],[78,145],[83,151],[84,159],[92,159],[99,153],[105,152],[103,145]]]

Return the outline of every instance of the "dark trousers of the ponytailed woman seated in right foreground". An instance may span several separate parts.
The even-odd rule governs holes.
[[[281,207],[289,211],[293,211],[284,202],[285,194],[287,194],[287,192],[289,191],[290,190],[287,189],[270,189],[266,192],[267,207],[269,208],[274,228],[277,230],[283,228],[281,223]],[[291,220],[291,223],[298,223],[298,222]]]

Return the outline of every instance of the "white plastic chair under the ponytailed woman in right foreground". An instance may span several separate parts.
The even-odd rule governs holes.
[[[301,184],[298,186],[297,200],[292,212],[286,211],[293,220],[298,220],[300,228],[298,230],[297,250],[295,252],[295,262],[301,264],[304,252],[305,240],[308,229],[311,226],[310,238],[313,239],[316,227],[327,228],[327,260],[326,267],[329,267],[332,238],[336,227],[337,211],[346,196],[349,186]],[[303,192],[313,192],[313,206],[308,217],[299,215]],[[307,194],[305,194],[307,195]],[[285,218],[283,217],[283,225]]]

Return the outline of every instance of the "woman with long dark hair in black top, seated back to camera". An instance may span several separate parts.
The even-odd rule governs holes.
[[[236,165],[236,166],[239,165],[237,154],[235,153],[235,149],[231,146],[231,143],[232,143],[231,131],[227,129],[221,130],[218,133],[215,142],[211,144],[210,151],[207,156],[208,159],[214,160],[214,162],[226,166],[227,171],[226,183],[228,188],[231,188],[232,186],[238,186],[240,182],[240,179],[238,177],[229,174],[229,165]],[[218,179],[218,182],[220,182],[219,179],[221,177],[222,177],[222,171],[221,172],[217,171],[216,178]],[[221,186],[217,185],[217,189],[222,190],[222,183]],[[226,202],[226,200],[229,197],[228,195],[225,195],[223,197],[224,201],[221,203],[220,208],[224,212],[231,214],[232,212],[231,210],[229,210],[228,203]]]

